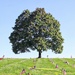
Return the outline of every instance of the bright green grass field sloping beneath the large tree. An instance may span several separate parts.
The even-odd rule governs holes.
[[[68,62],[65,63],[65,62]],[[55,68],[58,64],[58,68]],[[32,67],[35,66],[34,69]],[[0,75],[20,75],[22,69],[26,70],[23,75],[63,75],[62,69],[66,70],[66,75],[75,75],[74,58],[40,58],[40,59],[18,59],[5,58],[0,60]]]

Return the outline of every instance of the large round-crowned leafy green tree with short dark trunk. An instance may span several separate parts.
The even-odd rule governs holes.
[[[37,50],[41,58],[43,51],[63,51],[60,23],[44,8],[36,8],[33,12],[24,10],[16,19],[9,39],[15,54]]]

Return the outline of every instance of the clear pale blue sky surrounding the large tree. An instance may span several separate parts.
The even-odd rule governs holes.
[[[30,53],[14,54],[9,40],[15,20],[23,12],[29,9],[45,8],[51,13],[61,26],[60,31],[64,38],[64,49],[61,54],[52,51],[42,53],[42,57],[75,57],[75,0],[0,0],[0,57],[6,58],[34,58],[38,57],[36,51]]]

